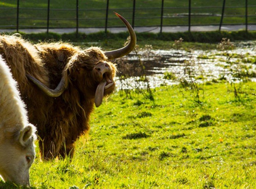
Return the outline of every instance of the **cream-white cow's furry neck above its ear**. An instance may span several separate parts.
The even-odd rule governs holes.
[[[20,99],[17,82],[0,56],[0,128],[4,132],[15,133],[28,123],[26,105]],[[32,125],[31,127],[35,131]]]

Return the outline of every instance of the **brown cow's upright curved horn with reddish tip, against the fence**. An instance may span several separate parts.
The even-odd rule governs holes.
[[[127,46],[121,48],[121,49],[117,49],[117,50],[112,50],[112,51],[106,51],[104,52],[105,55],[108,57],[108,59],[116,59],[116,58],[120,58],[123,57],[127,54],[129,54],[135,47],[136,45],[136,34],[135,31],[133,30],[131,24],[129,24],[129,22],[120,14],[114,12],[125,24],[125,26],[127,27],[129,34],[130,34],[130,42]]]

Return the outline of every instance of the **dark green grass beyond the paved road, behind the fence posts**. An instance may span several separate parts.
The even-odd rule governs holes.
[[[106,2],[106,0],[80,0],[79,27],[104,27]],[[161,2],[161,0],[136,1],[135,26],[159,26],[161,22]],[[223,0],[193,0],[191,4],[191,24],[219,24],[222,3]],[[248,17],[248,23],[256,23],[255,5],[256,0],[248,1],[248,15],[251,15]],[[16,26],[16,6],[17,0],[3,0],[0,2],[0,8],[4,8],[0,9],[1,27]],[[46,27],[47,0],[20,1],[19,7],[20,28]],[[132,22],[132,7],[132,0],[110,0],[108,26],[122,26],[122,23],[112,13],[113,11],[120,13]],[[163,25],[188,24],[188,0],[165,0],[164,7]],[[244,1],[228,0],[226,1],[226,7],[223,24],[245,23]],[[50,1],[50,8],[52,9],[50,11],[50,19],[52,19],[50,20],[50,27],[76,26],[76,0]]]

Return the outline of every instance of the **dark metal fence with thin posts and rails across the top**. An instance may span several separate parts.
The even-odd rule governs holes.
[[[82,0],[80,0],[81,2]],[[111,0],[105,0],[105,8],[79,8],[79,0],[73,0],[72,6],[74,8],[51,8],[51,1],[47,0],[47,7],[46,8],[35,8],[35,7],[20,7],[20,0],[16,0],[16,7],[0,7],[0,15],[8,15],[8,16],[0,16],[0,20],[7,20],[5,24],[0,22],[0,28],[16,28],[16,31],[18,32],[20,28],[45,28],[47,33],[49,32],[49,28],[76,28],[76,32],[78,33],[79,28],[86,28],[86,27],[105,27],[105,32],[107,32],[109,27],[121,27],[121,25],[115,25],[115,24],[109,24],[112,20],[116,18],[109,18],[109,12],[110,11],[124,11],[124,12],[129,12],[131,16],[125,17],[128,20],[131,21],[132,27],[135,27],[135,21],[139,20],[138,24],[136,24],[136,27],[140,26],[159,26],[160,27],[160,32],[162,32],[162,27],[164,26],[188,26],[188,31],[190,31],[191,26],[195,25],[219,25],[219,30],[221,30],[221,26],[224,24],[234,24],[230,21],[230,23],[223,23],[223,18],[243,18],[244,22],[236,22],[235,24],[245,24],[245,30],[248,30],[248,24],[255,24],[256,22],[256,13],[253,11],[256,8],[256,0],[253,0],[254,4],[250,4],[248,6],[248,0],[240,0],[240,5],[233,5],[233,6],[226,6],[226,0],[222,1],[221,6],[191,6],[193,2],[196,0],[187,0],[187,5],[185,7],[165,7],[165,2],[168,0],[158,0],[159,1],[159,7],[136,7],[136,0],[133,0],[132,6],[131,7],[124,7],[124,8],[110,8],[109,6],[109,1]],[[157,1],[157,0],[155,0]],[[84,0],[82,1],[84,2]],[[241,2],[244,5],[241,5]],[[75,6],[74,6],[74,3]],[[251,14],[248,14],[248,8],[251,10]],[[198,10],[209,10],[209,9],[215,9],[221,13],[217,14],[200,14],[198,13]],[[225,10],[226,9],[241,9],[244,11],[244,13],[240,14],[226,14],[225,15]],[[150,11],[150,12],[155,12],[155,15],[151,16],[151,14],[148,14],[150,16],[140,16],[140,12],[144,11]],[[177,11],[178,10],[178,11]],[[20,11],[23,11],[23,16],[20,15]],[[36,11],[38,12],[39,17],[32,17],[29,14],[29,11]],[[39,13],[39,12],[42,13]],[[57,14],[57,12],[64,11],[63,13]],[[181,12],[181,13],[173,13],[173,12]],[[192,13],[192,11],[197,12],[197,14]],[[12,13],[11,13],[12,12]],[[14,16],[14,12],[16,12],[16,15]],[[46,14],[45,14],[46,12]],[[50,13],[55,13],[57,15],[54,16],[54,18],[51,18]],[[86,15],[87,12],[105,12],[105,16],[93,18],[93,17],[87,17],[83,18],[81,15]],[[158,13],[159,12],[159,13]],[[168,12],[168,13],[167,13]],[[169,13],[171,12],[171,13]],[[215,11],[216,12],[216,11]],[[240,11],[241,12],[241,11]],[[10,14],[9,14],[10,13]],[[25,13],[27,13],[25,15]],[[138,16],[136,15],[138,13]],[[64,18],[65,14],[71,15],[71,18]],[[25,15],[25,16],[24,16]],[[60,18],[61,16],[61,18]],[[215,19],[215,21],[212,21],[209,23],[201,23],[197,21],[196,23],[192,23],[193,20],[200,20],[203,18],[208,17],[209,20],[211,21],[212,18]],[[217,18],[217,19],[216,19]],[[251,18],[251,22],[249,23],[248,18]],[[170,19],[175,20],[175,22],[170,21]],[[181,22],[177,21],[177,19],[182,20]],[[8,21],[10,20],[10,21]],[[8,23],[13,23],[13,20],[16,20],[16,24],[8,24]],[[20,24],[20,20],[39,20],[41,23],[39,25],[33,24],[29,21],[26,22],[26,24]],[[143,21],[141,21],[143,20]],[[145,20],[154,20],[154,22],[144,24],[146,22]],[[217,20],[217,21],[216,21]],[[219,21],[218,21],[219,20]],[[241,20],[241,19],[240,19]],[[50,26],[50,22],[60,22],[63,24],[59,24],[56,26]],[[159,22],[158,22],[159,21]],[[163,22],[165,21],[165,23]],[[46,23],[45,23],[46,22]],[[66,24],[64,24],[66,22]],[[218,22],[218,23],[217,23]],[[70,24],[70,23],[75,23],[75,24]],[[83,24],[81,24],[83,23]],[[90,23],[90,24],[86,24]],[[103,24],[104,23],[104,24]],[[200,24],[201,23],[201,24]],[[45,24],[45,25],[44,25]],[[119,23],[118,23],[119,24]],[[115,25],[115,26],[113,26]]]

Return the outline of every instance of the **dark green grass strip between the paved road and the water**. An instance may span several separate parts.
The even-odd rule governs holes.
[[[178,32],[178,33],[137,33],[137,44],[140,48],[151,44],[154,49],[172,49],[175,40],[184,39],[181,43],[182,49],[187,50],[210,50],[216,49],[217,43],[222,38],[228,38],[232,42],[236,40],[256,40],[256,31],[210,31],[210,32]],[[41,34],[23,34],[23,38],[29,39],[31,42],[38,43],[38,41],[65,41],[71,42],[74,45],[82,47],[99,46],[103,50],[113,50],[120,48],[129,36],[125,33],[105,33],[98,32],[93,34],[56,34],[56,33],[41,33]]]

